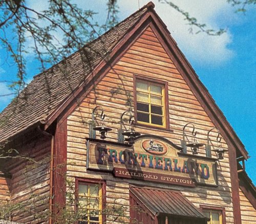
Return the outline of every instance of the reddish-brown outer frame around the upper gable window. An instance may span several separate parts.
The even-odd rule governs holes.
[[[152,84],[156,85],[161,85],[163,86],[163,119],[165,119],[165,126],[157,125],[157,124],[150,124],[146,122],[139,122],[137,119],[137,92],[136,92],[136,83],[138,81],[141,82],[150,82]],[[133,92],[134,92],[134,118],[136,125],[141,125],[141,126],[147,126],[147,127],[154,127],[154,128],[161,128],[161,129],[169,129],[169,99],[168,99],[168,82],[162,81],[162,80],[157,80],[157,79],[152,79],[150,77],[145,77],[145,76],[139,76],[135,75],[133,76]]]

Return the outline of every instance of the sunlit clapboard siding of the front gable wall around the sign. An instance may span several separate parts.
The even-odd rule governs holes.
[[[125,110],[134,109],[133,76],[145,76],[156,80],[168,82],[168,105],[170,129],[136,125],[136,130],[142,134],[156,133],[177,145],[182,139],[182,128],[188,123],[195,124],[200,142],[206,144],[207,131],[215,125],[206,114],[195,94],[186,84],[174,62],[169,58],[161,42],[148,27],[146,31],[125,52],[111,70],[94,86],[81,104],[68,117],[68,158],[67,173],[70,177],[103,178],[106,181],[106,201],[127,205],[124,221],[129,222],[129,184],[146,184],[152,187],[163,187],[150,182],[142,183],[135,180],[122,180],[114,178],[112,174],[94,174],[86,171],[86,139],[89,137],[89,123],[91,113],[96,105],[101,105],[105,111],[105,124],[113,130],[108,133],[108,140],[117,141],[117,129],[120,116]],[[211,133],[212,142],[215,141],[216,132]],[[99,138],[99,136],[97,136]],[[191,139],[190,139],[191,140]],[[222,139],[222,147],[228,148]],[[189,149],[188,149],[189,151]],[[191,153],[190,151],[188,153]],[[200,149],[200,155],[205,156],[205,150]],[[212,153],[216,157],[215,153]],[[185,188],[168,186],[165,188],[181,190],[192,203],[199,208],[200,205],[224,207],[226,210],[226,223],[233,223],[233,205],[231,195],[230,169],[228,153],[224,160],[218,162],[219,187]],[[121,195],[120,195],[121,194]],[[117,199],[118,198],[118,199]],[[110,220],[110,219],[108,219]],[[111,223],[111,222],[110,222]]]

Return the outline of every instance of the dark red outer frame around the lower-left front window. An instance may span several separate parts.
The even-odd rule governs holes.
[[[86,184],[98,184],[101,185],[101,211],[104,211],[106,207],[106,182],[100,179],[90,179],[90,178],[75,178],[75,211],[78,210],[77,203],[79,200],[78,196],[78,186],[79,183],[83,183],[84,185]],[[103,224],[106,222],[106,214],[101,214],[101,222],[99,224]],[[78,223],[78,220],[76,221],[76,224]]]

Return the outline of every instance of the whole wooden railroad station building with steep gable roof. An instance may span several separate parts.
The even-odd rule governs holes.
[[[256,223],[248,152],[153,3],[35,76],[0,119],[2,219]]]

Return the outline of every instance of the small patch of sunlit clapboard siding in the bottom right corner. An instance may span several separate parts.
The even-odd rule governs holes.
[[[256,209],[251,205],[248,198],[239,189],[242,224],[256,223]]]

